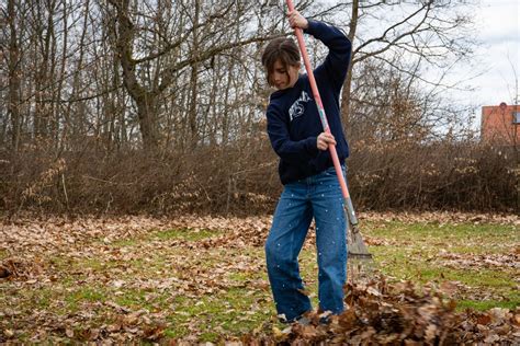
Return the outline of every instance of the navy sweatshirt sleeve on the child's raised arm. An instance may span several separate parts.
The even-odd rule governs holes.
[[[339,91],[349,70],[352,44],[339,28],[321,22],[308,20],[308,27],[304,32],[321,41],[329,48],[325,61],[316,68],[315,73],[326,74],[334,88]]]

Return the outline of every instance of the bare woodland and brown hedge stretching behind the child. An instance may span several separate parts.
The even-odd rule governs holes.
[[[259,61],[291,35],[282,1],[0,3],[0,210],[274,208]],[[474,109],[450,101],[462,81],[443,79],[477,47],[471,5],[296,3],[353,42],[342,118],[359,209],[518,211],[518,149],[482,143]],[[307,43],[316,66],[326,50]]]

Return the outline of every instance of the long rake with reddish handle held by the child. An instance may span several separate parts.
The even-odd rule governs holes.
[[[294,10],[294,4],[292,0],[286,0],[286,4],[290,11]],[[318,107],[319,118],[321,120],[324,131],[330,134],[330,127],[327,122],[327,116],[325,115],[325,109],[321,103],[321,97],[319,96],[316,80],[314,79],[313,68],[310,67],[310,60],[307,55],[307,48],[305,47],[303,32],[299,27],[295,27],[294,33],[296,34],[296,38],[298,41],[299,50],[302,51],[305,69],[307,70],[308,80],[310,82],[310,88],[313,89],[314,100],[316,101],[316,105]],[[360,230],[358,228],[358,218],[355,217],[352,200],[350,199],[349,189],[347,188],[347,183],[343,177],[341,165],[339,164],[336,147],[334,145],[329,145],[329,151],[330,157],[332,158],[334,166],[336,169],[336,174],[338,175],[339,185],[341,186],[341,193],[344,198],[347,215],[349,216],[349,260],[372,260],[372,254],[369,253],[369,250],[366,249],[366,245],[364,244],[363,238],[361,237]]]

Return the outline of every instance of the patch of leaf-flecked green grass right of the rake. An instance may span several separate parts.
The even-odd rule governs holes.
[[[386,222],[365,234],[391,244],[371,246],[380,270],[395,280],[457,281],[459,309],[513,309],[520,303],[520,232],[513,226]],[[509,256],[508,256],[509,255]],[[445,261],[455,257],[459,261]],[[488,257],[495,265],[483,263]]]

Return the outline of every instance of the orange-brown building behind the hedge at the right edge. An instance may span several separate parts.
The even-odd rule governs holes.
[[[520,146],[520,106],[482,107],[481,138],[483,141],[502,145]]]

